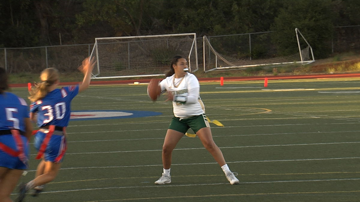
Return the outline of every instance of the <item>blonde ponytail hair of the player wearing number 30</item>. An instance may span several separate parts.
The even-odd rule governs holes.
[[[31,88],[30,101],[35,102],[41,100],[48,95],[49,87],[59,79],[59,71],[55,68],[46,68],[40,74],[41,82],[35,83],[35,87]]]

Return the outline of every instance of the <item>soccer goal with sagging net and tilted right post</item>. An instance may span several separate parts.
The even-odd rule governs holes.
[[[271,44],[271,33],[258,32],[216,38],[203,36],[204,72],[256,66],[270,68],[297,63],[309,64],[315,61],[310,44],[297,28],[295,33],[298,48],[294,46],[294,53],[285,56],[276,56],[278,52],[276,46]]]

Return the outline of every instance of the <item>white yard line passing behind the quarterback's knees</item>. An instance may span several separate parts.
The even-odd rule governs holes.
[[[357,144],[360,142],[330,142],[330,143],[308,143],[308,144],[273,144],[273,145],[255,145],[255,146],[237,146],[237,147],[219,147],[220,149],[229,149],[229,148],[253,148],[253,147],[281,147],[281,146],[309,146],[309,145],[325,145],[325,144]],[[199,148],[181,148],[174,150],[203,150],[204,147]],[[134,150],[134,151],[111,151],[111,152],[81,152],[81,153],[67,153],[68,155],[75,154],[94,154],[94,153],[130,153],[130,152],[152,152],[152,151],[162,151],[162,150]],[[36,156],[37,154],[32,154],[30,156]]]

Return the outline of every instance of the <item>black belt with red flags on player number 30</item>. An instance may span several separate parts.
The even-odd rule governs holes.
[[[45,136],[44,140],[42,140],[39,152],[37,152],[37,156],[35,157],[35,159],[40,159],[42,157],[42,155],[44,155],[44,152],[46,150],[46,147],[48,146],[51,136],[53,134],[54,135],[65,135],[66,134],[65,129],[66,129],[66,127],[59,127],[59,126],[55,126],[55,125],[46,125],[45,127],[41,127],[39,129],[39,131],[46,133],[46,136]],[[65,141],[65,139],[64,139],[64,141]],[[58,163],[65,154],[67,146],[66,146],[66,142],[64,142],[64,143],[65,143],[65,146],[63,147],[63,150],[58,155],[58,157],[55,159],[55,163]]]

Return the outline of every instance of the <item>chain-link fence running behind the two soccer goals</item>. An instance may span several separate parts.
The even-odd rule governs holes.
[[[259,57],[260,54],[264,54],[261,47],[266,46],[269,41],[269,39],[264,40],[261,38],[264,33],[267,32],[239,34],[238,38],[243,41],[241,51],[238,51],[239,44],[231,41],[234,39],[233,35],[212,36],[212,38],[221,41],[218,45],[213,41],[214,44],[212,45],[215,50],[222,52],[224,55],[237,54],[240,58],[248,57],[251,60],[251,57]],[[331,46],[333,53],[360,51],[360,25],[334,27],[332,36],[332,40],[328,44]],[[202,41],[202,38],[197,40],[199,67],[202,66],[203,61]],[[81,61],[90,55],[93,46],[94,44],[81,44],[0,48],[0,66],[5,68],[8,73],[40,73],[43,69],[49,67],[57,68],[61,72],[75,72]],[[226,47],[226,50],[223,50],[224,47]]]

